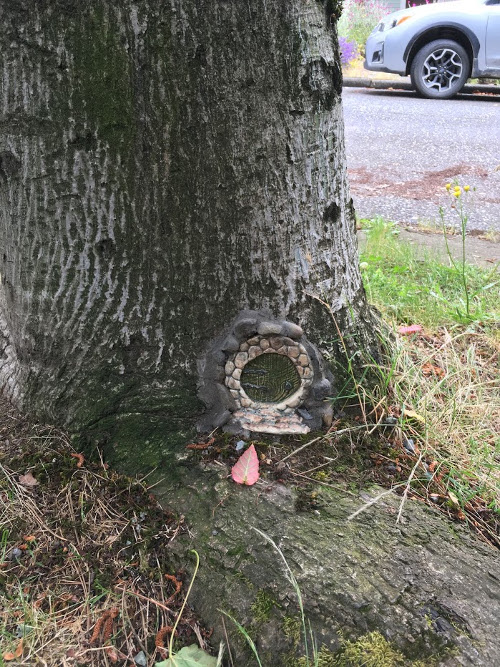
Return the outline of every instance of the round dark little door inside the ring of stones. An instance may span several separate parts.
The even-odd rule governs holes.
[[[241,388],[259,403],[280,403],[300,389],[301,379],[293,361],[283,354],[261,354],[245,364]]]

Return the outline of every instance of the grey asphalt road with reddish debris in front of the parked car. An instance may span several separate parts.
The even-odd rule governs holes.
[[[359,217],[448,224],[444,186],[469,193],[469,230],[500,232],[500,96],[424,100],[413,92],[344,88],[347,165]]]

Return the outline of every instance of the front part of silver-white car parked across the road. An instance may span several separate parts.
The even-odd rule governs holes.
[[[366,42],[365,68],[411,76],[424,97],[456,95],[469,77],[500,79],[500,0],[458,0],[389,14]]]

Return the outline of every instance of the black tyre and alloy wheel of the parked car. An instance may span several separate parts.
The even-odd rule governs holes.
[[[448,99],[469,78],[467,51],[450,39],[437,39],[420,49],[411,64],[411,81],[424,97]]]

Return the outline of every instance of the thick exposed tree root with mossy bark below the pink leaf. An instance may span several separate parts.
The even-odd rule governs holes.
[[[190,547],[200,553],[197,611],[224,641],[217,610],[229,612],[255,640],[263,667],[295,665],[304,645],[281,556],[251,526],[275,541],[297,579],[318,646],[333,654],[320,665],[500,664],[498,551],[437,510],[407,500],[397,523],[401,497],[376,487],[359,496],[317,488],[307,507],[297,491],[279,484],[238,487],[220,466],[186,470],[156,490],[186,512],[191,537],[174,542],[180,563],[193,561]],[[254,665],[227,618],[225,625],[235,664]],[[342,657],[346,640],[373,632],[402,657],[375,651]]]

